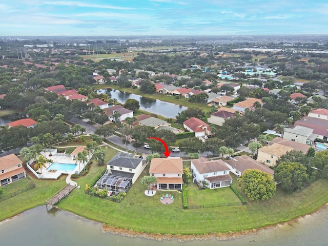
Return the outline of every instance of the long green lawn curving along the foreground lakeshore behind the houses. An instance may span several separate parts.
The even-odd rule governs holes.
[[[110,148],[105,148],[105,151],[106,161],[116,153]],[[174,202],[168,205],[162,204],[159,199],[160,195],[168,191],[158,192],[152,197],[144,194],[147,188],[141,185],[140,179],[149,175],[149,165],[121,203],[86,195],[83,189],[86,183],[90,183],[105,169],[106,166],[99,167],[94,162],[87,175],[75,180],[81,189],[74,190],[61,200],[58,207],[110,226],[141,232],[204,234],[249,230],[288,221],[314,212],[328,202],[328,180],[319,179],[299,193],[287,194],[278,186],[272,199],[260,202],[248,201],[247,206],[183,210],[181,194],[178,192],[170,191],[174,196]],[[33,178],[36,188],[0,202],[2,208],[0,220],[44,205],[47,198],[65,186],[65,177],[56,181]],[[236,189],[240,190],[236,177],[234,175],[232,177]],[[188,192],[192,194],[189,196],[191,203],[236,199],[233,193],[229,195],[229,189],[217,189],[217,191],[196,189],[192,186],[189,188]]]

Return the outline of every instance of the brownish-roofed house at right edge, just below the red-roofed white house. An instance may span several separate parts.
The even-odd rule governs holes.
[[[300,120],[297,120],[294,126],[311,128],[313,130],[313,135],[314,135],[311,138],[313,140],[315,140],[316,138],[328,140],[328,120],[322,119],[321,117],[324,118],[324,115],[320,114],[320,118],[303,117]],[[312,145],[312,142],[310,144]]]

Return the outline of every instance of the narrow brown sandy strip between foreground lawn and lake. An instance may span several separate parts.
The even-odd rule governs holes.
[[[296,218],[291,219],[286,222],[276,223],[276,224],[272,224],[270,226],[265,226],[262,228],[256,228],[256,229],[240,231],[240,232],[209,233],[209,234],[202,234],[202,235],[181,235],[181,234],[173,235],[173,234],[137,232],[137,231],[133,231],[133,230],[129,230],[129,229],[122,229],[122,228],[118,228],[118,227],[108,226],[107,224],[103,224],[103,226],[101,227],[101,230],[104,233],[112,233],[115,235],[121,235],[121,236],[126,236],[126,237],[142,237],[142,238],[156,240],[156,241],[178,240],[179,242],[186,242],[186,241],[191,241],[191,240],[211,240],[211,239],[229,240],[229,239],[239,238],[239,237],[249,235],[249,234],[254,234],[254,233],[257,233],[262,230],[268,230],[268,229],[272,229],[274,227],[279,227],[284,224],[293,224],[293,223],[298,222],[299,219],[305,218],[305,216],[312,215],[321,209],[327,209],[327,208],[328,208],[328,203],[324,204],[318,210],[316,210],[310,214],[304,214],[302,216],[296,217]]]

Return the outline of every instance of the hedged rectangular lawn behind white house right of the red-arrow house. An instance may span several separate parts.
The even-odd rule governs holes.
[[[240,202],[235,193],[229,188],[199,190],[195,183],[190,183],[187,189],[188,205]]]

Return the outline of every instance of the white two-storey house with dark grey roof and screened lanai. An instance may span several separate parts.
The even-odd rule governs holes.
[[[107,170],[97,186],[115,193],[127,192],[145,168],[146,160],[119,152],[107,162]]]

